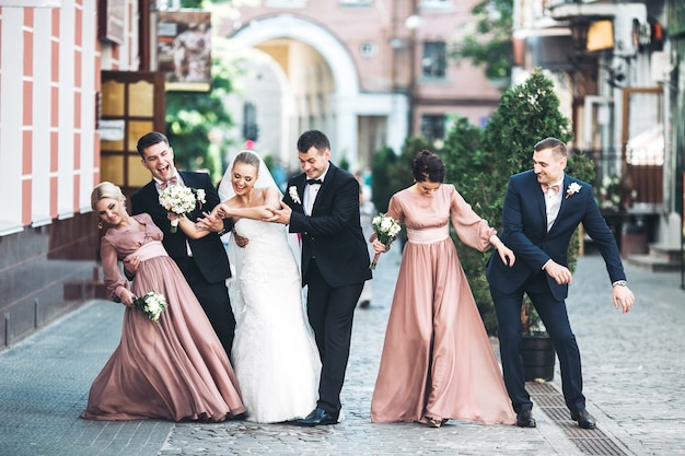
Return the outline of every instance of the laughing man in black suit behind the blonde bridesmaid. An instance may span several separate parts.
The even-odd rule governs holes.
[[[211,225],[213,233],[199,239],[190,239],[182,230],[171,232],[166,209],[159,201],[162,188],[167,185],[204,189],[206,203],[201,207],[198,204],[188,214],[190,220],[197,221],[204,212],[208,215],[208,212],[220,202],[217,189],[207,173],[178,172],[174,166],[174,151],[166,136],[160,132],[152,131],[142,136],[138,140],[138,153],[142,159],[142,165],[150,171],[152,180],[131,196],[131,212],[149,213],[154,224],[162,230],[164,233],[162,244],[169,256],[178,265],[230,356],[235,318],[225,284],[225,280],[231,277],[229,257],[219,237],[227,229],[231,229],[230,222],[227,221],[224,225],[221,219],[208,218],[207,220],[213,222]],[[133,260],[125,267],[128,272],[135,271],[137,261]]]

